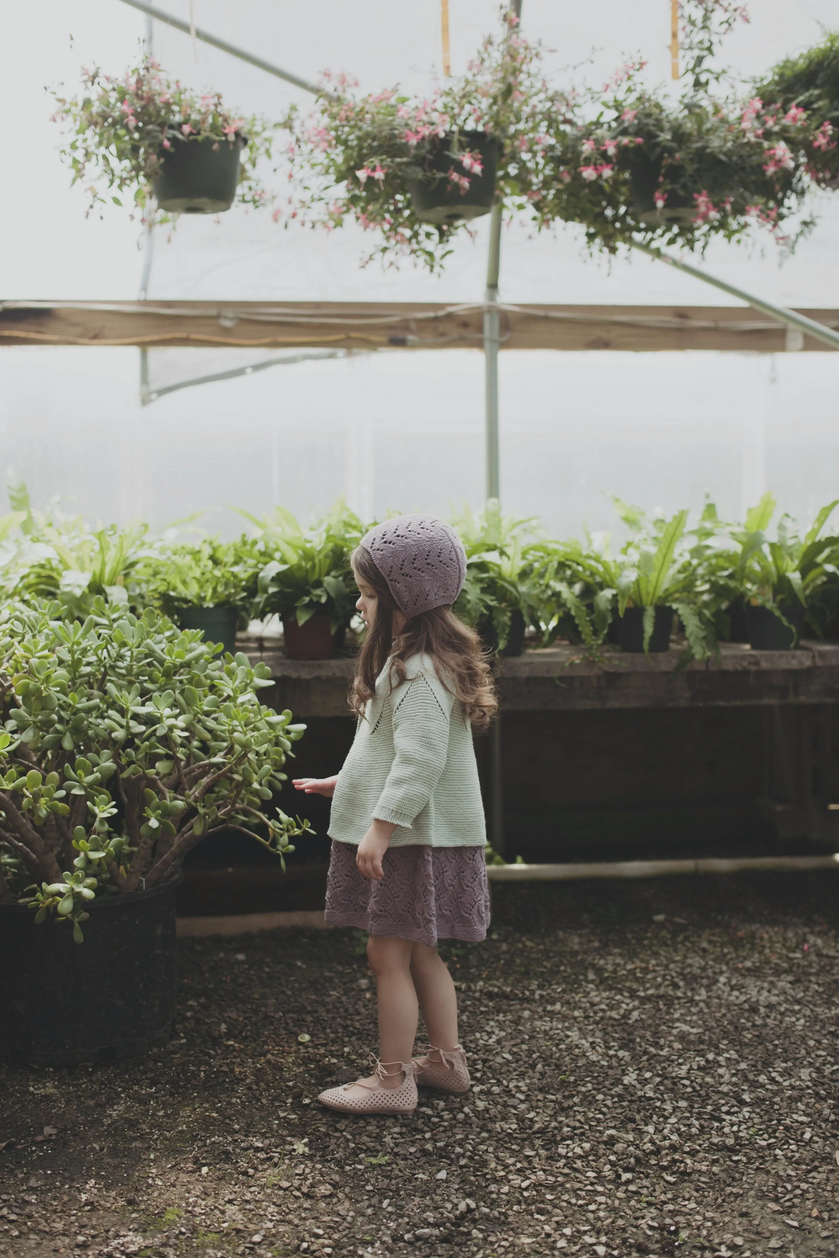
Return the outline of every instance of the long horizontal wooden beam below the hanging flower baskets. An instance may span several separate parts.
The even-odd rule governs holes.
[[[803,314],[839,327],[839,309]],[[777,353],[786,330],[738,306],[502,304],[502,350]],[[475,348],[483,307],[439,302],[0,302],[0,346]],[[797,346],[796,346],[797,347]],[[805,350],[828,347],[804,337]]]

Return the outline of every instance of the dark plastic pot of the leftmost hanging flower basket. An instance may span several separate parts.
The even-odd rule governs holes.
[[[244,136],[229,140],[172,140],[161,152],[155,199],[170,214],[220,214],[229,210],[239,185]]]

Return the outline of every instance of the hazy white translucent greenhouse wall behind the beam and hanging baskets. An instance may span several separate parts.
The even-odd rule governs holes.
[[[158,0],[189,20],[189,0]],[[558,81],[603,82],[640,52],[650,82],[669,83],[669,0],[525,0],[523,31],[541,38]],[[497,25],[494,0],[450,0],[453,72]],[[820,38],[835,0],[752,0],[725,57],[742,78]],[[361,88],[423,91],[440,67],[439,0],[194,0],[195,21],[304,77],[346,69]],[[3,116],[14,122],[0,198],[0,296],[135,298],[138,224],[117,208],[86,219],[86,196],[59,162],[44,86],[74,91],[79,65],[122,73],[145,18],[119,0],[58,0],[4,11]],[[69,36],[73,36],[70,47]],[[309,99],[187,35],[153,25],[164,69],[219,89],[234,109],[277,117]],[[14,159],[11,152],[14,151]],[[14,164],[13,164],[14,161]],[[839,306],[839,194],[819,199],[819,225],[779,265],[764,252],[714,244],[704,265],[789,306]],[[482,298],[487,220],[447,273],[410,264],[360,269],[364,242],[284,230],[234,209],[156,233],[148,296],[218,299]],[[511,302],[725,304],[717,291],[645,258],[592,260],[580,231],[504,233],[502,298]],[[194,352],[194,360],[189,357]],[[235,351],[229,351],[235,355]],[[151,356],[152,375],[201,375],[225,351]],[[365,517],[389,508],[448,513],[483,497],[483,360],[477,351],[396,351],[272,367],[184,389],[142,408],[135,348],[0,345],[0,473],[23,477],[36,503],[55,494],[91,520],[164,527],[194,511],[230,535],[231,506],[282,502],[303,518],[338,493]],[[191,364],[194,362],[194,367]],[[830,353],[501,355],[502,499],[540,515],[555,535],[610,528],[609,496],[668,513],[707,493],[736,516],[770,488],[806,521],[839,491],[839,360]]]

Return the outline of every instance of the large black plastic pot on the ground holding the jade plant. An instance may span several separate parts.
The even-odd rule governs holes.
[[[175,888],[94,899],[69,925],[0,905],[0,1060],[108,1062],[165,1043],[175,1020]]]

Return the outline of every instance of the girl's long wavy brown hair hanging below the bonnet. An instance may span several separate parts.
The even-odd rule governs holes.
[[[498,708],[492,671],[478,634],[455,616],[452,608],[433,608],[411,616],[394,638],[394,611],[397,610],[387,582],[364,546],[350,556],[352,567],[376,591],[376,619],[367,629],[350,689],[353,712],[364,716],[365,704],[376,693],[376,678],[390,659],[390,684],[400,686],[406,677],[405,660],[425,654],[439,665],[440,681],[463,706],[472,727],[483,733]]]

